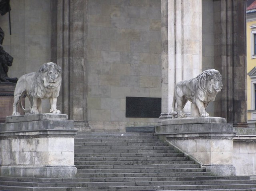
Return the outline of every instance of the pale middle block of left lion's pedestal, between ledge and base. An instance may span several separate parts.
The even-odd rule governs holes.
[[[74,138],[2,139],[1,165],[74,164]]]

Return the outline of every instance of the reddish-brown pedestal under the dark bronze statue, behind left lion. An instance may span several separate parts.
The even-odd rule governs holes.
[[[12,104],[14,100],[14,89],[16,83],[1,82],[0,83],[0,123],[5,122],[6,116],[12,115]],[[22,99],[22,104],[25,103],[25,98]],[[24,114],[20,105],[18,107],[20,114]]]

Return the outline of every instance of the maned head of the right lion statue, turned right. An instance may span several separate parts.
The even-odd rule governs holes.
[[[198,79],[198,94],[201,100],[209,99],[213,101],[218,92],[222,89],[222,75],[218,70],[209,69],[196,77]]]

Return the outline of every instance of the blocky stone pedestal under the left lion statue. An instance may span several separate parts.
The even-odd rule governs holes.
[[[64,114],[6,117],[0,124],[0,176],[74,177],[75,135]]]

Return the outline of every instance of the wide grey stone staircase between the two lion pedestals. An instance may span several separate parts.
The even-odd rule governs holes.
[[[0,191],[256,191],[247,176],[216,177],[152,133],[79,132],[75,178],[0,177]]]

